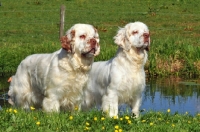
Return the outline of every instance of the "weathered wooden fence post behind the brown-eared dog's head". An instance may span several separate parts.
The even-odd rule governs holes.
[[[60,33],[59,33],[60,38],[63,36],[64,32],[64,21],[65,21],[65,6],[62,5],[60,7]]]

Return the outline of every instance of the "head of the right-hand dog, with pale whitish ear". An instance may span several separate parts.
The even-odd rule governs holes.
[[[142,22],[127,24],[124,28],[119,29],[114,39],[117,45],[127,51],[132,47],[137,50],[149,51],[150,33],[148,27]]]

